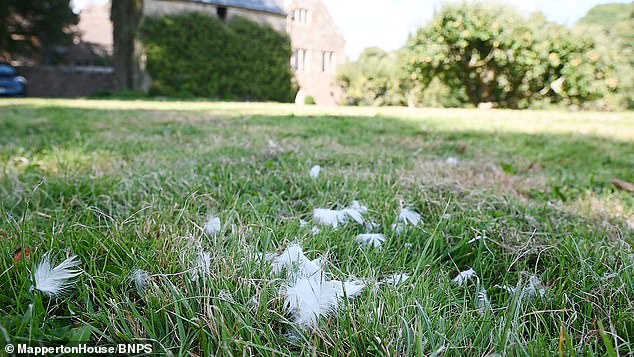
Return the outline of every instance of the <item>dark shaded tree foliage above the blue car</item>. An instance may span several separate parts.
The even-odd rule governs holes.
[[[76,24],[69,0],[2,0],[0,56],[54,62],[55,47],[72,42]]]

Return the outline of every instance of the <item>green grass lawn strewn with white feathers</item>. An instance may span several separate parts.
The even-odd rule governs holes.
[[[633,354],[634,194],[615,177],[634,182],[634,113],[2,100],[0,347]],[[313,209],[353,200],[380,223],[380,249],[357,244],[366,229],[353,223],[311,233]],[[404,207],[423,223],[396,234]],[[210,215],[217,235],[203,229]],[[367,284],[313,331],[292,322],[283,280],[253,257],[295,242],[331,278]],[[193,278],[203,250],[210,274]],[[31,289],[47,252],[81,259],[64,298]],[[452,282],[469,268],[478,279]],[[135,269],[151,274],[144,290]],[[378,283],[393,273],[411,277]],[[523,293],[531,278],[543,296]]]

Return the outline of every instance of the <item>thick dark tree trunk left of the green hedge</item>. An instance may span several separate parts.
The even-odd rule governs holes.
[[[143,0],[112,0],[113,64],[120,89],[146,91],[143,46],[139,30],[143,20]]]

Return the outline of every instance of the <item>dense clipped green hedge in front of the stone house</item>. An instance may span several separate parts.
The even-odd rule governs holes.
[[[153,95],[290,102],[297,92],[286,34],[243,18],[146,18],[141,39]]]

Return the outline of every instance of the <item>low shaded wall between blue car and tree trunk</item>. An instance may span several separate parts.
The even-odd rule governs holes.
[[[116,88],[111,67],[33,66],[17,70],[27,80],[29,97],[77,98]]]

